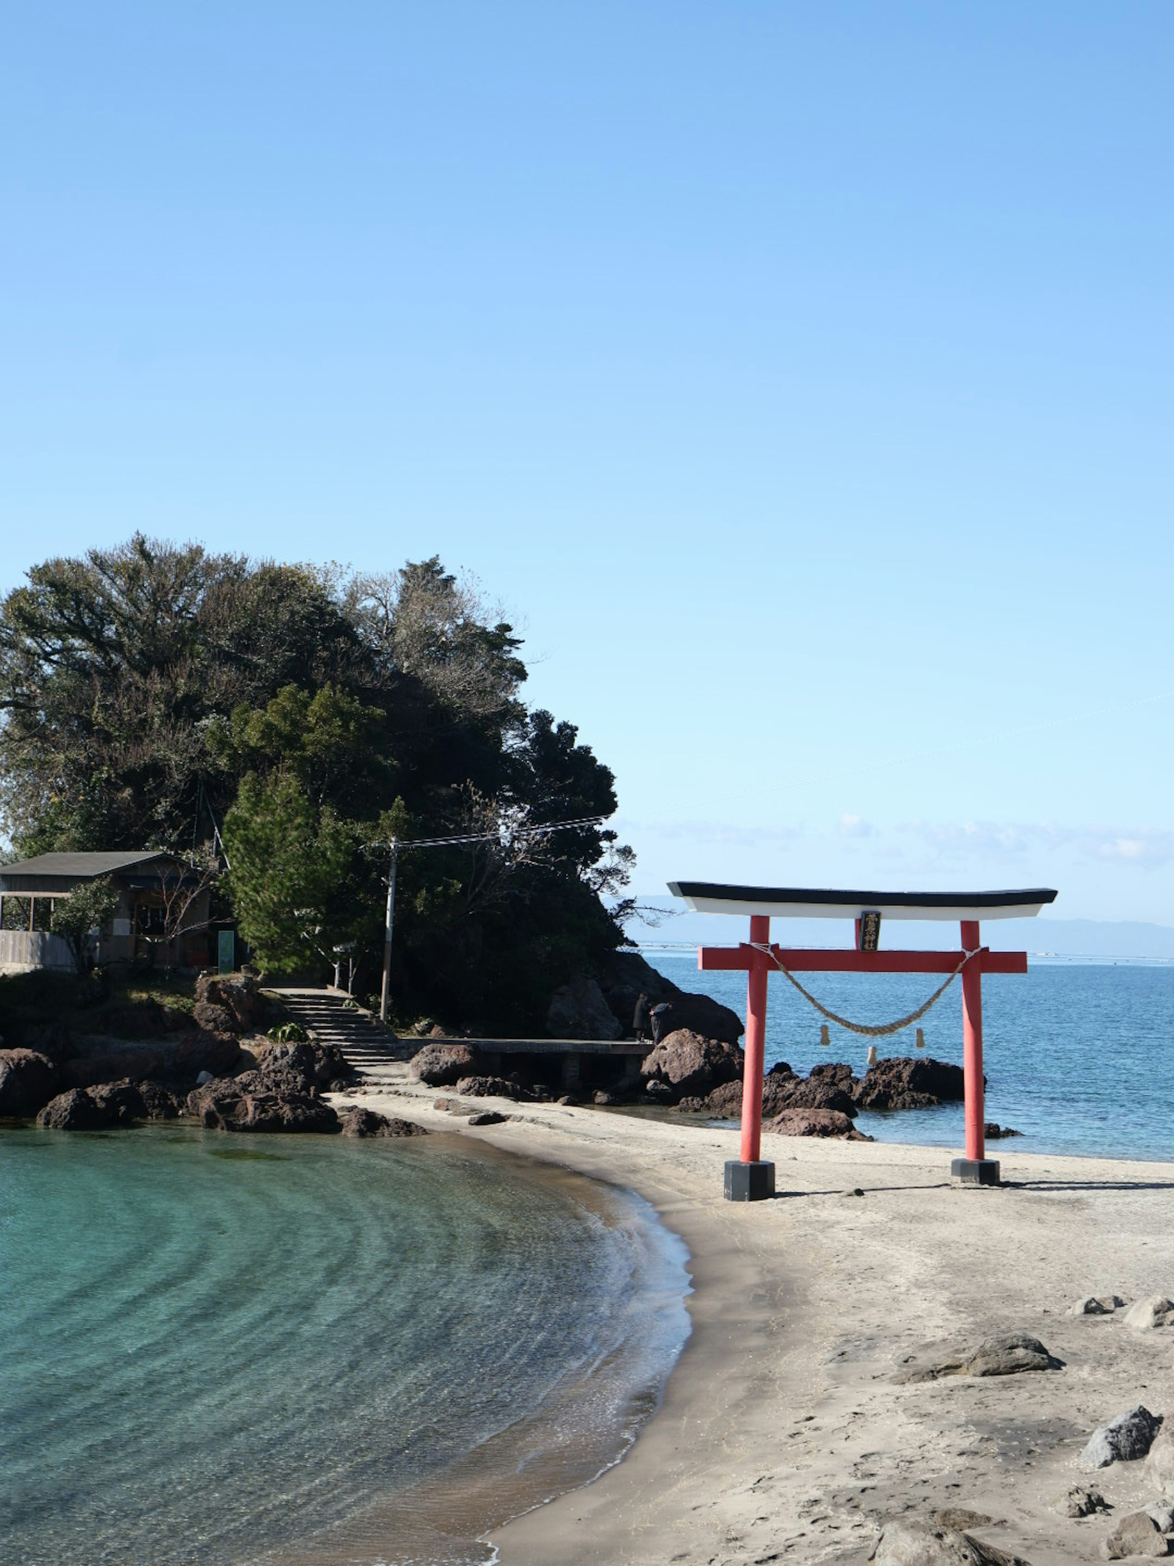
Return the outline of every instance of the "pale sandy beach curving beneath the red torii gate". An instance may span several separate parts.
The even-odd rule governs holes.
[[[778,1196],[722,1200],[737,1135],[687,1118],[470,1102],[470,1128],[407,1077],[360,1101],[482,1137],[645,1196],[692,1253],[692,1337],[621,1464],[492,1533],[502,1566],[866,1561],[886,1517],[966,1508],[1032,1566],[1100,1560],[1115,1519],[1155,1502],[1143,1463],[1083,1474],[1091,1431],[1174,1413],[1174,1331],[1085,1295],[1174,1292],[1174,1165],[1016,1156],[1005,1187],[960,1190],[950,1153],[764,1137]],[[1063,1369],[902,1383],[936,1348],[1039,1337]],[[1055,1510],[1069,1486],[1111,1511]]]

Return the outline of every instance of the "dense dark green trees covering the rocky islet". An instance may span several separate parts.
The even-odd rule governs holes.
[[[601,894],[631,853],[598,827],[614,778],[529,711],[509,623],[438,561],[385,576],[144,537],[53,559],[0,603],[0,825],[17,853],[200,850],[222,833],[241,933],[293,971],[382,952],[399,861],[401,1009],[538,1026],[620,940]]]

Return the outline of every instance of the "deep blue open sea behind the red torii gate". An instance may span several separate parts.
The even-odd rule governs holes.
[[[698,972],[695,954],[646,952],[684,990],[700,990],[745,1016],[747,982]],[[888,1023],[933,994],[941,979],[906,974],[801,974],[826,1007],[855,1023]],[[781,974],[770,979],[767,1065],[809,1071],[847,1060],[864,1074],[869,1040],[830,1026]],[[924,1018],[925,1052],[961,1065],[958,980]],[[877,1040],[880,1055],[914,1055],[914,1030]],[[1022,1131],[1008,1149],[1174,1159],[1174,965],[1033,960],[1025,977],[983,979],[986,1118]],[[862,1113],[883,1142],[961,1148],[961,1104],[891,1115]],[[992,1143],[997,1151],[997,1145]]]

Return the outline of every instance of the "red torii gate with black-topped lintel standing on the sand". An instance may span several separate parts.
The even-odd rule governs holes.
[[[986,1157],[983,1121],[983,974],[1025,974],[1027,952],[992,952],[981,944],[980,919],[1032,918],[1055,891],[877,893],[817,891],[794,886],[722,886],[714,882],[670,882],[695,913],[750,916],[750,940],[740,946],[701,946],[701,969],[742,969],[747,982],[745,1076],[742,1082],[742,1156],[726,1164],[729,1201],[761,1201],[775,1193],[775,1165],[761,1157],[762,1054],[767,1032],[767,977],[789,972],[953,974],[963,983],[963,1071],[966,1076],[966,1157],[950,1165],[953,1179],[996,1185],[999,1164]],[[801,951],[770,941],[772,918],[855,919],[855,951]],[[883,919],[956,919],[961,951],[881,952]]]

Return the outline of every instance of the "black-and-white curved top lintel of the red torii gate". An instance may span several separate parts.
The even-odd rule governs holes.
[[[828,891],[817,886],[725,886],[670,882],[695,913],[765,913],[781,919],[1030,919],[1055,902],[1055,891]]]

